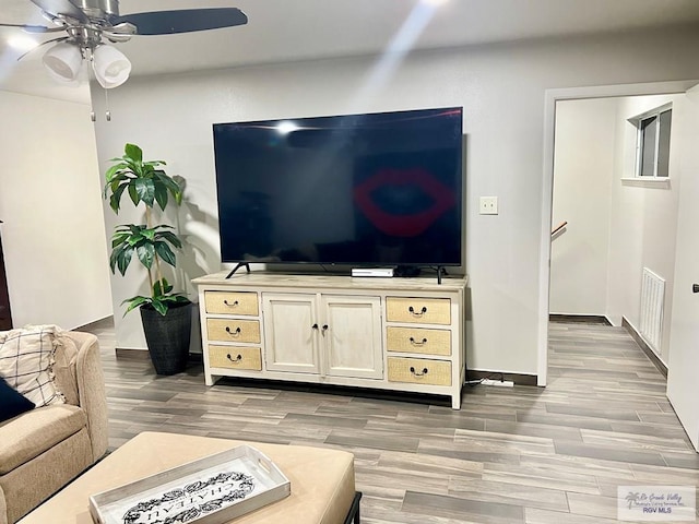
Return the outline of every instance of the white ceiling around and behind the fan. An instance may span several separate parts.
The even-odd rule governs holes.
[[[44,24],[29,0],[0,0],[0,22]],[[118,44],[132,75],[218,69],[381,52],[441,48],[577,34],[699,24],[698,0],[121,0],[121,14],[237,7],[244,26]],[[23,60],[7,45],[21,29],[0,27],[0,90],[87,100],[87,90],[57,88],[42,67],[43,51]],[[40,36],[42,40],[50,38]]]

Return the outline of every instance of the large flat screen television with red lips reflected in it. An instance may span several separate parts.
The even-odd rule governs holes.
[[[221,257],[453,266],[462,108],[213,126]]]

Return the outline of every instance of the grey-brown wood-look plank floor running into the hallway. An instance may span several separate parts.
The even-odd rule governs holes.
[[[110,446],[140,431],[330,446],[355,454],[367,524],[605,524],[617,486],[699,484],[665,381],[620,327],[553,323],[545,389],[466,386],[461,410],[293,386],[156,377],[99,336]],[[295,386],[298,388],[298,386]]]

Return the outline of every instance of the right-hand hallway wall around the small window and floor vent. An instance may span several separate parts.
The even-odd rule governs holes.
[[[670,355],[677,209],[680,188],[676,147],[682,130],[673,123],[671,131],[670,187],[627,182],[636,165],[636,127],[627,121],[650,109],[673,102],[673,120],[682,119],[684,95],[624,98],[617,109],[614,183],[612,184],[612,223],[609,238],[609,289],[607,317],[615,325],[621,317],[638,331],[640,327],[641,275],[648,267],[665,279],[663,336],[659,357],[666,365]]]

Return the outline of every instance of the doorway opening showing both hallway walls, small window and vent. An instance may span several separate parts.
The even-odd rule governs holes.
[[[549,313],[553,319],[625,326],[664,374],[679,204],[677,145],[684,139],[680,126],[673,131],[672,116],[684,118],[685,96],[556,105],[553,223],[566,218],[571,226],[552,237]],[[642,128],[638,116],[659,108],[667,115],[661,133],[666,140],[647,141],[644,156],[647,165],[657,158],[665,169],[639,178],[639,134],[645,129],[653,134],[657,126]]]

